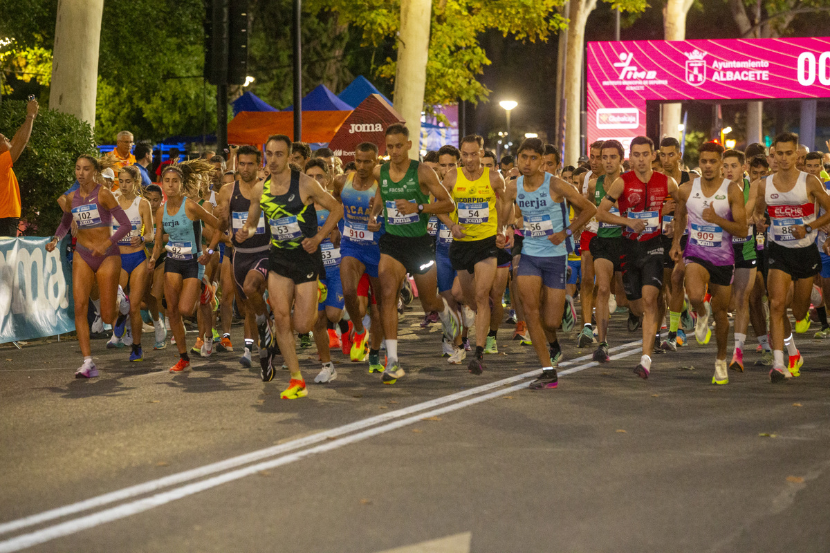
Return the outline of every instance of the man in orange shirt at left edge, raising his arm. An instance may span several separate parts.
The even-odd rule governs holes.
[[[17,236],[20,222],[20,186],[12,165],[20,158],[23,148],[32,136],[32,125],[37,117],[37,99],[26,106],[26,121],[14,133],[12,140],[0,134],[0,236]]]

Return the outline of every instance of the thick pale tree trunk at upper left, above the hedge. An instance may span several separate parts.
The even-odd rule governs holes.
[[[95,126],[98,46],[104,0],[60,0],[57,5],[49,108]]]

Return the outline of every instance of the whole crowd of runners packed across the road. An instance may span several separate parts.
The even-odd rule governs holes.
[[[331,351],[340,350],[394,385],[406,374],[398,321],[413,286],[420,326],[442,327],[436,362],[480,375],[500,327],[515,324],[512,338],[538,357],[537,390],[557,386],[569,349],[610,361],[617,311],[642,329],[633,372],[643,379],[655,354],[686,346],[686,332],[699,344],[714,332],[719,385],[744,371],[745,357],[769,366],[772,382],[800,375],[788,310],[795,332],[812,313],[815,337],[830,336],[830,177],[793,133],[745,151],[703,143],[691,171],[676,139],[643,136],[628,152],[617,140],[592,143],[579,167],[562,167],[539,138],[498,160],[476,135],[417,161],[408,129],[393,124],[388,161],[378,144],[360,143],[342,167],[326,148],[275,135],[264,159],[242,146],[227,160],[173,161],[158,183],[146,163],[131,163],[148,155],[139,144],[131,158],[132,140],[120,133],[115,153],[78,158],[46,246],[73,236],[78,378],[98,376],[90,332],[105,325],[106,347],[129,349],[129,361],[144,360],[146,332],[153,349],[176,347],[170,372],[179,373],[191,355],[233,352],[237,318],[239,362],[250,367],[256,352],[263,381],[289,371],[283,398],[308,394],[298,345],[316,347],[317,383],[337,378]],[[198,338],[188,343],[193,318]]]

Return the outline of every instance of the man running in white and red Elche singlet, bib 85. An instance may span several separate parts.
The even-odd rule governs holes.
[[[818,229],[830,222],[830,196],[818,178],[796,169],[798,134],[780,133],[773,146],[778,171],[752,186],[758,187],[755,220],[760,220],[766,212],[771,222],[766,248],[769,335],[773,342],[773,368],[769,371],[769,380],[780,382],[801,374],[804,360],[795,347],[786,316],[789,287],[793,284],[790,301],[793,316],[800,321],[808,313],[813,277],[822,263],[815,242]],[[826,211],[818,219],[816,203]],[[784,345],[789,354],[789,371],[784,371]]]

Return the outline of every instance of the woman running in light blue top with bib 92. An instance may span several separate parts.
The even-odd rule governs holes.
[[[155,214],[160,225],[156,226],[153,254],[147,265],[150,271],[154,270],[162,250],[167,250],[164,297],[167,298],[167,315],[179,357],[170,367],[173,373],[190,370],[182,316],[193,315],[197,307],[202,307],[209,299],[202,282],[204,266],[198,262],[198,252],[202,246],[202,223],[215,229],[218,221],[191,198],[198,197],[199,180],[209,175],[212,169],[212,165],[203,159],[193,159],[168,165],[161,174],[167,201]],[[169,238],[166,245],[164,235]],[[208,255],[212,253],[207,248],[204,251]]]

